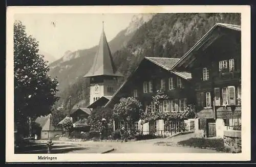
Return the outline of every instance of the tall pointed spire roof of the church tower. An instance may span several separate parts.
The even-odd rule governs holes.
[[[94,57],[94,62],[92,64],[89,72],[84,75],[84,77],[108,75],[108,76],[122,76],[114,64],[113,57],[110,51],[108,41],[102,29],[102,33],[99,40],[98,50]]]

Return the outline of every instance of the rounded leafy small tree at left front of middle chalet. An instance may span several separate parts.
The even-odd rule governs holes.
[[[120,122],[127,122],[130,126],[143,115],[142,104],[134,97],[121,98],[112,109],[113,118]],[[132,130],[134,130],[133,126]]]

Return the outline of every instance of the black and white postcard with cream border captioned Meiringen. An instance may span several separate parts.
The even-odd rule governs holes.
[[[247,8],[80,8],[12,13],[6,87],[12,156],[247,155],[250,46],[243,46],[250,24],[241,12]]]

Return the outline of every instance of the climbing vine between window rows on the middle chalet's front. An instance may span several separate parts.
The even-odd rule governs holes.
[[[164,120],[166,125],[172,121],[182,121],[188,118],[195,117],[195,105],[190,104],[185,106],[184,112],[159,112],[159,106],[162,100],[168,100],[168,95],[164,94],[161,90],[157,91],[155,96],[152,96],[152,104],[147,106],[147,110],[142,116],[141,123]],[[153,111],[152,111],[153,107]]]

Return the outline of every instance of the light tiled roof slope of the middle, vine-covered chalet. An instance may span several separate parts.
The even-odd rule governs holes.
[[[153,58],[153,57],[145,57],[145,59],[155,63],[156,65],[170,71],[173,66],[180,60],[178,58]],[[172,71],[176,75],[183,77],[184,79],[191,79],[191,73],[189,72],[179,72]]]

